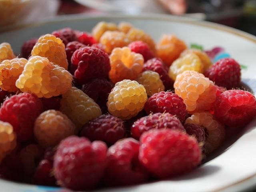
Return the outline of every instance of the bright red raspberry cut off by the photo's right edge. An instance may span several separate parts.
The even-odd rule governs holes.
[[[227,126],[244,126],[255,115],[255,96],[248,91],[227,90],[216,99],[214,116]]]

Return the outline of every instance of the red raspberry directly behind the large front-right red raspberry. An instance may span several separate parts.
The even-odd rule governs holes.
[[[172,116],[170,113],[155,113],[142,117],[134,122],[131,128],[132,137],[140,139],[142,133],[153,128],[169,128],[172,130],[186,132],[180,120]]]

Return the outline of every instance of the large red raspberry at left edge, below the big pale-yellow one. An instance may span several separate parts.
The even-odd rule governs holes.
[[[32,137],[34,121],[42,112],[42,102],[30,93],[13,95],[0,108],[0,119],[13,126],[18,140]]]

